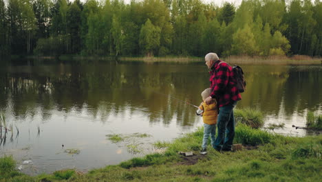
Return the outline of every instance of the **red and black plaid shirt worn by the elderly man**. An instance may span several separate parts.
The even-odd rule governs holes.
[[[209,81],[211,82],[211,97],[217,100],[219,108],[228,105],[233,101],[241,100],[241,95],[235,86],[233,68],[228,63],[216,61],[209,70],[211,74]],[[219,65],[218,65],[219,64]]]

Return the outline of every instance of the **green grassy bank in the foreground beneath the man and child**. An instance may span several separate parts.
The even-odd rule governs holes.
[[[172,143],[158,142],[162,154],[149,154],[119,165],[81,174],[63,170],[26,176],[14,168],[12,157],[0,159],[0,181],[319,181],[322,136],[295,138],[271,134],[244,124],[236,128],[234,152],[208,148],[199,154],[202,128]],[[193,151],[194,156],[178,152]]]

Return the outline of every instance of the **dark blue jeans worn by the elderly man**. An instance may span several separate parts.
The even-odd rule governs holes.
[[[237,102],[219,108],[217,118],[218,136],[215,141],[215,150],[231,150],[235,136],[234,108]]]

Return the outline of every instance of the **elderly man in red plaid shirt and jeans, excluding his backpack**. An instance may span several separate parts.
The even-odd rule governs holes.
[[[233,68],[228,63],[219,60],[217,54],[211,52],[204,57],[209,68],[211,81],[211,96],[205,101],[211,103],[217,100],[219,115],[217,118],[218,136],[213,148],[220,151],[230,151],[235,136],[235,120],[233,108],[241,96],[235,86]]]

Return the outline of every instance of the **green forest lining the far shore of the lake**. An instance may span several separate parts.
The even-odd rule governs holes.
[[[321,57],[322,2],[0,0],[0,57]]]

